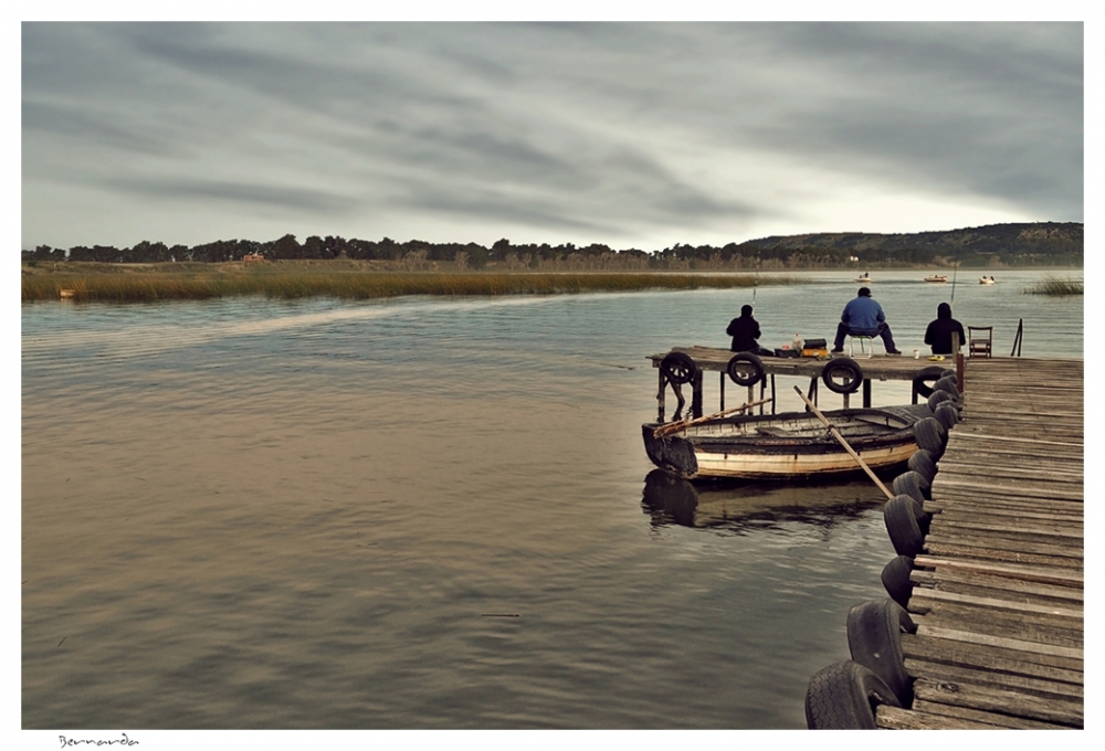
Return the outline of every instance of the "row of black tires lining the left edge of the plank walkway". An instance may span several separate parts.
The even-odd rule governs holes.
[[[878,705],[908,708],[913,704],[913,681],[902,653],[902,634],[916,631],[905,610],[913,593],[909,573],[928,533],[930,517],[924,503],[932,499],[937,463],[962,406],[955,371],[929,370],[922,376],[935,378],[935,383],[926,387],[927,393],[918,388],[918,393],[928,399],[933,415],[914,426],[918,449],[909,458],[908,470],[894,478],[894,497],[883,507],[886,532],[897,553],[882,572],[890,597],[849,611],[848,646],[852,658],[822,668],[810,678],[806,722],[811,730],[874,729]],[[914,385],[924,384],[915,381]]]

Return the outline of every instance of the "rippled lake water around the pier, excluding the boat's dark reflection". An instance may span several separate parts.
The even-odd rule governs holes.
[[[1082,298],[1022,294],[1042,275],[964,273],[956,317],[1082,357]],[[807,276],[24,305],[23,728],[804,728],[885,596],[880,491],[695,490],[640,425],[648,356],[727,347],[754,294],[761,343],[831,340],[857,285]],[[953,294],[922,276],[871,285],[906,352]]]

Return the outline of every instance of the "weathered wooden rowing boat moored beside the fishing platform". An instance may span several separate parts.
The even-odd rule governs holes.
[[[914,424],[933,412],[926,403],[833,410],[823,413],[873,470],[909,461]],[[835,477],[863,472],[812,412],[702,420],[670,432],[642,425],[644,449],[661,469],[684,479]]]

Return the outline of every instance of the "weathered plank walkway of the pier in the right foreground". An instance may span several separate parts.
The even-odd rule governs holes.
[[[968,360],[877,727],[1083,728],[1083,361]]]

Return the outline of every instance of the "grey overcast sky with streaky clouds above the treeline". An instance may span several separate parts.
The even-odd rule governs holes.
[[[1083,221],[1081,23],[24,23],[22,247]]]

